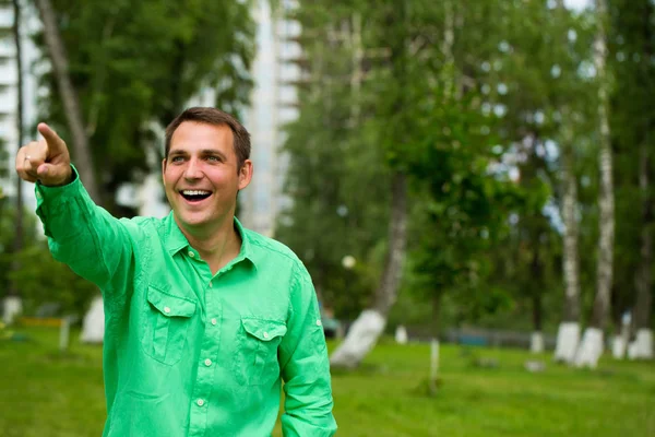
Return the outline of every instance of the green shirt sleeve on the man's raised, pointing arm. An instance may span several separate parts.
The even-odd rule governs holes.
[[[97,206],[72,168],[74,180],[66,186],[36,184],[36,215],[44,225],[52,257],[98,285],[105,307],[110,309],[124,303],[133,265],[128,222]]]

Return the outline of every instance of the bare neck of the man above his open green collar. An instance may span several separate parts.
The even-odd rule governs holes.
[[[176,223],[191,247],[198,250],[200,257],[210,265],[212,274],[216,274],[239,255],[241,238],[235,229],[234,215],[212,228],[184,227],[177,218]]]

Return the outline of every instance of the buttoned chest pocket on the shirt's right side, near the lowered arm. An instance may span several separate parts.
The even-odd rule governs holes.
[[[283,321],[241,318],[235,354],[235,376],[240,385],[262,386],[277,380],[277,346],[286,331]]]

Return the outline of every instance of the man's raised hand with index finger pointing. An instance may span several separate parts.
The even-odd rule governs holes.
[[[46,187],[71,182],[73,170],[66,143],[48,125],[39,123],[37,129],[44,138],[19,149],[16,173],[23,180],[39,180]]]

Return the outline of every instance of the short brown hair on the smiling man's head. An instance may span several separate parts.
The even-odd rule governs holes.
[[[227,126],[233,131],[234,147],[237,155],[237,172],[241,169],[246,160],[250,157],[250,133],[235,117],[221,109],[211,107],[188,108],[166,127],[165,157],[168,157],[168,152],[170,152],[170,139],[172,134],[184,121]]]

